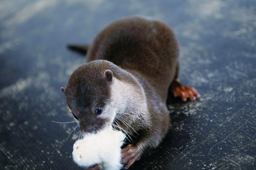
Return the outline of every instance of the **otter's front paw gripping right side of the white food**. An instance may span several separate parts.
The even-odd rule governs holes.
[[[138,147],[133,144],[127,145],[122,149],[122,163],[126,164],[125,169],[127,170],[131,165],[140,160],[141,154],[139,153]]]

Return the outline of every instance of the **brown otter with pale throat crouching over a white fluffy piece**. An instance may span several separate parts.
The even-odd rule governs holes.
[[[168,94],[183,101],[198,98],[178,76],[179,48],[173,31],[157,20],[126,17],[99,32],[88,48],[87,63],[73,72],[61,91],[82,133],[108,125],[126,133],[130,142],[121,154],[128,169],[156,148],[169,130]]]

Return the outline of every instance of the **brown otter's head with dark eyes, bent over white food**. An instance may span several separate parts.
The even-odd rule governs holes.
[[[66,87],[61,88],[82,133],[101,130],[113,122],[112,83],[111,70],[98,62],[89,62],[77,68]]]

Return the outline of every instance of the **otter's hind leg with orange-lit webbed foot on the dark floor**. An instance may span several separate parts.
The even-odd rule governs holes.
[[[184,102],[187,99],[195,100],[199,98],[198,92],[195,88],[191,88],[187,85],[182,84],[178,80],[179,77],[179,64],[177,63],[175,78],[169,86],[169,92],[172,92],[174,97],[180,97]]]

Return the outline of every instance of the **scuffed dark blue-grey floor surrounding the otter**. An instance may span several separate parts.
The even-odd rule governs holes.
[[[80,170],[60,87],[90,44],[130,15],[167,23],[180,44],[180,80],[201,99],[169,105],[172,128],[130,170],[256,170],[255,0],[1,0],[0,169]],[[69,136],[69,137],[68,137]]]

